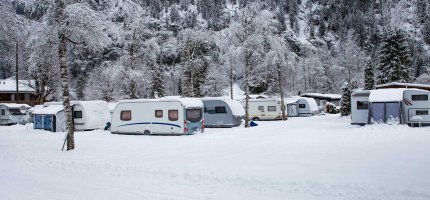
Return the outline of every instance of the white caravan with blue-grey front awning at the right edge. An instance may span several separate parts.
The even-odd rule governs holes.
[[[421,89],[372,90],[369,95],[369,123],[430,125],[429,94],[429,91]]]

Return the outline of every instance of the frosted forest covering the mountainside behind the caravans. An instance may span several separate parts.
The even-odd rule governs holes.
[[[66,0],[61,21],[57,1],[0,5],[0,79],[18,67],[49,101],[62,39],[77,100],[430,83],[428,0]]]

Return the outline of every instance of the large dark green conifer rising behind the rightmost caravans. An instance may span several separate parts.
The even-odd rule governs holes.
[[[412,79],[410,63],[406,39],[401,31],[394,31],[382,42],[379,52],[378,83],[410,82]]]

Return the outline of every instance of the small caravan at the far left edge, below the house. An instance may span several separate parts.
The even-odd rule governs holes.
[[[25,124],[29,120],[27,104],[0,104],[0,125]]]

